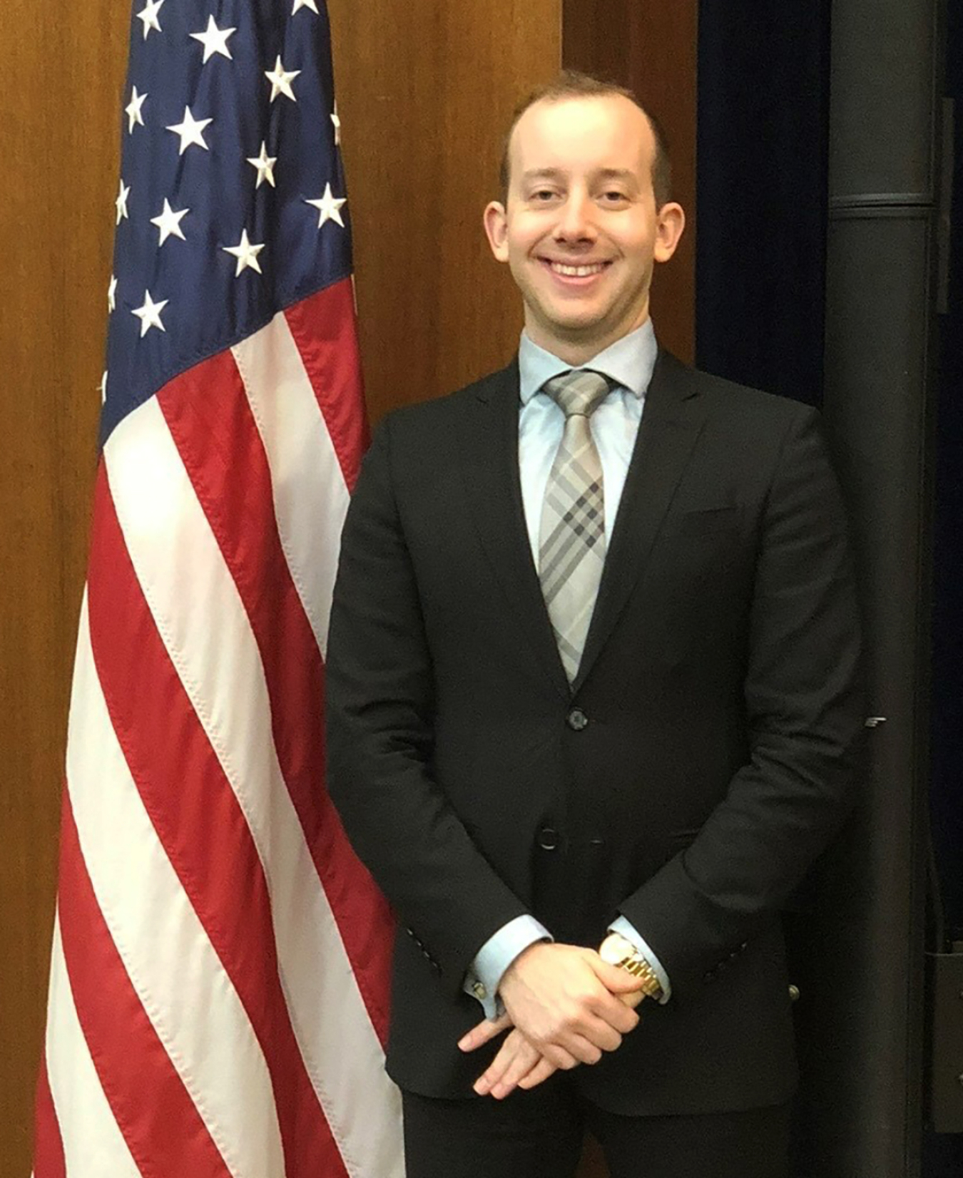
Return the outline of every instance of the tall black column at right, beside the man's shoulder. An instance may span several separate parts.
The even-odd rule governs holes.
[[[813,929],[810,1172],[919,1173],[932,458],[934,0],[836,0],[824,415],[855,522],[870,706],[851,891]],[[802,1013],[802,1012],[800,1012]]]

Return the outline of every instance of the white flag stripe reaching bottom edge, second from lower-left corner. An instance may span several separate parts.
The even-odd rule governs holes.
[[[158,547],[166,551],[164,544]],[[264,1055],[131,777],[93,663],[86,596],[67,736],[67,788],[113,942],[227,1167],[236,1178],[283,1178]]]

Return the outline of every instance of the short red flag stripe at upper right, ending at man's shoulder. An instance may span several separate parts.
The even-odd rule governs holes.
[[[345,278],[284,312],[335,444],[344,482],[354,490],[368,449],[368,415],[355,326],[355,289]]]

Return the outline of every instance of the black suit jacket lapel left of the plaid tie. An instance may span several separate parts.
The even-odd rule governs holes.
[[[519,366],[482,380],[466,398],[460,423],[466,495],[492,569],[523,642],[565,699],[570,695],[522,508],[519,478]]]

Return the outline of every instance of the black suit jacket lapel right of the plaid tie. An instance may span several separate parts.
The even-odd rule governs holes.
[[[701,429],[703,409],[688,370],[660,350],[573,693],[592,670],[645,568]]]

